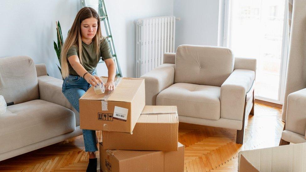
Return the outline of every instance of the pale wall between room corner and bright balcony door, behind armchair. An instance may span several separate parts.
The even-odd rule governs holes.
[[[218,0],[174,0],[175,49],[181,44],[218,44]]]

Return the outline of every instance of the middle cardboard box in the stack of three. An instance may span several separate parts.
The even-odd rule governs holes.
[[[103,131],[103,149],[176,151],[176,106],[145,106],[133,134]]]

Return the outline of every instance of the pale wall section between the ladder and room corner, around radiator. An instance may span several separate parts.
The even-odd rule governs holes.
[[[123,76],[135,77],[135,20],[173,15],[173,0],[106,0],[105,3]]]

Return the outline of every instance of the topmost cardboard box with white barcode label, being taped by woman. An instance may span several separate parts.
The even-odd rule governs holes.
[[[81,129],[132,133],[145,106],[145,80],[122,78],[115,90],[98,95],[90,87],[79,103]]]

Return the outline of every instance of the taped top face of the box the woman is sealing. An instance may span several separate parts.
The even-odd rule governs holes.
[[[100,78],[104,83],[107,82],[108,77],[101,76]],[[132,102],[142,82],[144,82],[143,78],[122,78],[118,86],[115,87],[115,90],[110,93],[108,101]],[[105,90],[103,94],[97,95],[93,87],[90,87],[80,99],[103,100],[103,97],[107,94],[108,91]]]

